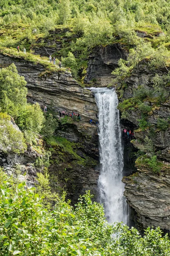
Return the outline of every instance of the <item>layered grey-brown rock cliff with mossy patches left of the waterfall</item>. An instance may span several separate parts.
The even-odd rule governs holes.
[[[77,157],[81,155],[82,159],[86,160],[91,157],[89,159],[91,164],[86,165],[82,161],[82,163],[69,165],[75,159],[66,151],[63,152],[62,159],[54,164],[54,155],[57,157],[55,151],[54,154],[52,153],[50,168],[54,178],[53,186],[57,186],[55,176],[58,176],[68,192],[68,198],[71,198],[73,203],[76,203],[79,194],[85,193],[85,190],[90,189],[96,195],[98,171],[96,170],[97,162],[94,164],[93,159],[98,160],[98,137],[95,125],[97,106],[91,91],[82,88],[68,71],[50,73],[46,72],[41,64],[35,65],[31,61],[0,54],[1,67],[7,67],[11,63],[16,65],[18,73],[27,81],[28,102],[38,102],[42,108],[47,105],[47,109],[52,108],[58,114],[59,109],[69,113],[72,111],[80,113],[81,121],[62,125],[58,135],[72,143],[79,143],[73,144]],[[89,119],[94,120],[94,125],[89,124]]]

